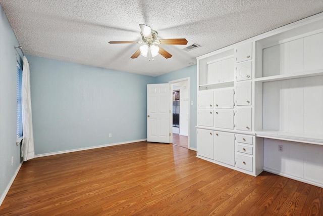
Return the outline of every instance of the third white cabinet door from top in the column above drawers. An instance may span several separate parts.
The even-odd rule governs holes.
[[[251,105],[252,83],[238,82],[236,84],[236,105]]]

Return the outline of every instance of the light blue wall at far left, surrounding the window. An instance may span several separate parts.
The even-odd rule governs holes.
[[[16,145],[16,54],[18,58],[19,54],[15,46],[19,46],[18,41],[0,6],[0,203],[22,161],[20,145]]]

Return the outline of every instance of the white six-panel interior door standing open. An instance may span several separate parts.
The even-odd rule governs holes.
[[[170,85],[147,84],[147,142],[170,143]]]

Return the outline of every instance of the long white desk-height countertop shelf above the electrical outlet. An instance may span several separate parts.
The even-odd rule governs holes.
[[[284,131],[256,131],[256,137],[323,145],[323,134],[302,134]]]

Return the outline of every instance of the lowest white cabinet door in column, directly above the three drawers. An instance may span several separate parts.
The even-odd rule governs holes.
[[[235,114],[236,129],[241,131],[252,131],[251,108],[237,108]]]

